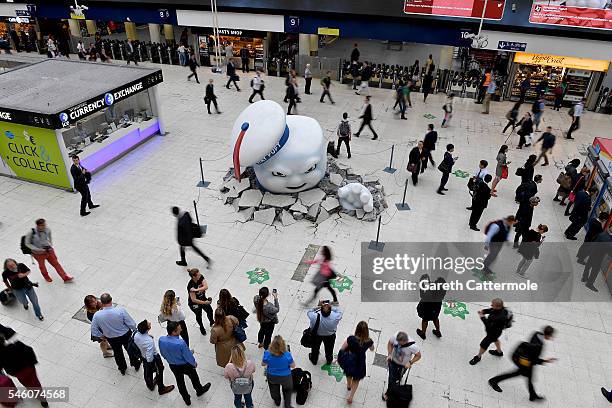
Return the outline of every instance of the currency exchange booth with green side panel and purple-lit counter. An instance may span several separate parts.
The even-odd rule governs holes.
[[[0,74],[0,175],[73,189],[72,160],[104,168],[163,122],[159,69],[45,60]]]

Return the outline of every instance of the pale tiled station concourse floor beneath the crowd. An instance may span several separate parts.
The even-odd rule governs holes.
[[[208,225],[207,236],[200,240],[201,247],[214,260],[214,267],[205,271],[210,293],[228,288],[243,304],[250,307],[258,285],[249,285],[246,272],[263,267],[270,272],[269,287],[278,288],[280,294],[280,324],[276,333],[285,336],[298,365],[313,374],[314,390],[307,406],[313,408],[345,406],[345,384],[336,382],[319,367],[313,367],[307,352],[299,345],[306,327],[305,309],[301,301],[312,290],[310,276],[304,282],[292,276],[309,244],[331,245],[335,251],[335,264],[340,273],[354,280],[350,292],[340,294],[345,315],[339,327],[337,346],[341,339],[353,331],[359,320],[366,320],[376,342],[376,353],[386,353],[386,341],[400,328],[411,336],[418,318],[412,303],[360,303],[360,243],[374,239],[375,223],[362,223],[353,218],[333,217],[314,228],[308,222],[299,222],[283,228],[265,226],[255,222],[243,223],[231,206],[224,206],[218,188],[221,177],[231,165],[229,131],[234,119],[247,105],[248,75],[242,75],[243,91],[223,88],[223,76],[215,75],[217,94],[222,115],[206,114],[202,101],[204,85],[212,77],[207,69],[200,69],[202,85],[187,82],[187,72],[178,67],[164,68],[165,82],[160,95],[166,118],[166,136],[157,136],[119,162],[94,177],[94,201],[102,205],[92,215],[78,215],[79,197],[75,194],[21,181],[0,178],[0,248],[2,257],[16,257],[29,263],[19,253],[19,238],[36,218],[44,217],[53,230],[56,250],[66,270],[75,276],[75,283],[63,285],[56,279],[48,284],[42,280],[36,267],[33,277],[41,284],[38,290],[44,322],[19,306],[0,307],[1,323],[13,327],[19,337],[32,345],[39,359],[38,370],[44,385],[69,386],[70,405],[75,407],[110,406],[182,406],[178,392],[159,397],[149,392],[142,373],[128,370],[122,377],[112,359],[103,359],[97,344],[90,341],[89,326],[73,319],[82,306],[83,297],[93,293],[110,292],[114,300],[125,306],[140,321],[147,318],[156,322],[162,294],[174,289],[185,298],[188,276],[174,261],[178,256],[175,242],[175,219],[170,206],[192,209],[197,202],[203,223]],[[266,97],[281,101],[283,80],[267,78]],[[320,104],[320,87],[314,81],[315,94],[303,95],[300,114],[320,121],[326,136],[334,137],[334,129],[342,112],[348,112],[357,123],[361,98],[343,85],[332,88],[336,105]],[[409,187],[407,202],[411,211],[397,212],[403,192],[407,153],[415,141],[425,133],[431,114],[439,125],[443,96],[432,95],[427,104],[420,94],[413,94],[413,108],[408,120],[400,121],[393,114],[393,94],[386,90],[372,90],[374,127],[380,133],[378,141],[371,141],[367,132],[352,143],[353,158],[341,159],[362,174],[380,177],[387,192],[389,210],[383,214],[382,241],[475,241],[483,240],[482,233],[467,229],[469,213],[463,208],[469,204],[465,179],[451,177],[448,194],[435,194],[439,173],[428,170],[417,188]],[[480,159],[493,163],[505,136],[501,126],[509,103],[493,103],[490,115],[479,113],[479,105],[472,100],[458,99],[452,126],[441,129],[440,159],[443,146],[454,143],[460,156],[457,168],[473,172]],[[568,127],[566,112],[547,109],[544,125],[551,125],[560,134]],[[438,126],[439,127],[439,126]],[[567,219],[561,208],[551,201],[556,188],[559,167],[573,157],[584,157],[585,147],[595,136],[609,136],[612,117],[587,113],[583,128],[576,133],[576,141],[559,140],[554,152],[555,166],[538,168],[544,175],[539,195],[543,198],[537,208],[534,222],[546,222],[550,227],[549,241],[563,241],[562,231]],[[532,151],[515,150],[517,137],[509,140],[509,159],[523,163]],[[394,175],[383,173],[388,164],[389,149],[395,144]],[[205,160],[206,178],[212,182],[208,189],[198,189],[198,159]],[[541,170],[542,169],[542,170]],[[499,186],[499,198],[492,200],[483,221],[513,213],[516,205],[513,192],[517,178],[510,177]],[[575,250],[574,243],[568,244]],[[188,253],[191,265],[204,267],[203,262]],[[601,287],[602,282],[598,282]],[[216,296],[215,296],[216,297]],[[483,407],[507,408],[531,406],[527,400],[526,385],[522,379],[504,383],[504,392],[497,394],[486,379],[511,368],[508,358],[484,358],[475,367],[467,364],[477,351],[482,336],[482,324],[476,311],[482,306],[468,304],[470,314],[465,320],[442,316],[444,337],[418,341],[423,359],[414,367],[411,382],[414,385],[414,407]],[[559,357],[555,364],[537,369],[536,388],[547,397],[540,406],[604,407],[599,387],[610,386],[612,380],[612,308],[609,298],[601,303],[510,304],[515,313],[515,325],[502,336],[504,349],[510,351],[533,330],[553,324],[558,336],[547,346],[546,356]],[[211,391],[194,405],[229,407],[231,392],[215,364],[214,349],[208,337],[199,335],[190,312],[188,326],[199,363],[198,372],[203,381],[213,383]],[[257,323],[253,317],[247,329],[247,352],[259,362],[261,351],[256,346]],[[154,324],[157,337],[165,330]],[[490,356],[488,356],[490,357]],[[374,353],[368,354],[368,377],[361,384],[354,406],[382,407],[380,394],[386,378],[384,369],[373,366]],[[167,367],[167,366],[166,366]],[[167,382],[174,383],[169,370]],[[257,407],[272,407],[273,401],[259,368],[253,393]],[[35,402],[24,403],[34,406]],[[53,406],[60,406],[59,403]]]

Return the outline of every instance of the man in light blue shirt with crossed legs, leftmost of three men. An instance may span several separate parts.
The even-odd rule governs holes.
[[[102,303],[102,310],[96,312],[91,320],[91,337],[94,339],[106,337],[113,349],[117,368],[122,375],[125,375],[127,364],[122,347],[127,351],[132,330],[136,330],[136,323],[124,308],[113,306],[113,298],[108,293],[100,296],[100,303]],[[129,353],[128,356],[130,365],[138,371],[140,360],[130,356]]]

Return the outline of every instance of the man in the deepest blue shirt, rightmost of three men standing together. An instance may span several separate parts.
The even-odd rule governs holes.
[[[196,390],[196,395],[198,397],[208,391],[210,383],[206,383],[204,386],[200,383],[200,378],[195,370],[198,363],[196,363],[193,353],[191,353],[189,347],[187,347],[185,340],[179,337],[181,333],[181,326],[179,323],[168,322],[166,330],[168,331],[168,335],[159,338],[159,352],[170,365],[170,370],[172,370],[176,378],[176,385],[179,388],[179,392],[185,404],[191,405],[191,396],[187,392],[187,387],[185,386],[185,375],[191,380],[191,384]]]

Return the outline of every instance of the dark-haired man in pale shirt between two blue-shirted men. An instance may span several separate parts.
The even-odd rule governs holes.
[[[174,385],[164,385],[164,362],[155,348],[155,340],[149,334],[150,330],[151,322],[143,320],[138,323],[137,331],[134,334],[134,344],[136,344],[142,356],[144,380],[147,388],[153,391],[157,385],[159,395],[164,395],[174,390]]]

